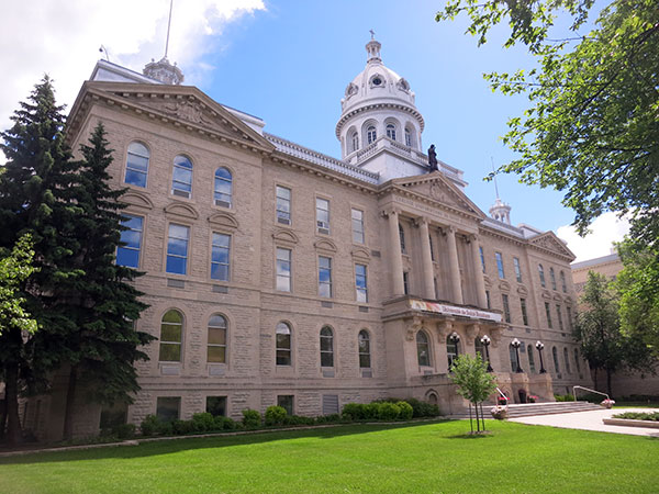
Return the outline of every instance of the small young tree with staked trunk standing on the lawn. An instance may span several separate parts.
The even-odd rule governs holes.
[[[488,396],[494,392],[496,381],[488,372],[488,364],[480,353],[477,353],[476,358],[468,355],[458,356],[454,360],[450,370],[449,378],[454,384],[457,384],[458,394],[465,400],[469,400],[476,408],[476,423],[478,430],[480,430],[478,405],[488,400]]]

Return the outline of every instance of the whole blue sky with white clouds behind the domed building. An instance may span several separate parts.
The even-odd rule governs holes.
[[[601,0],[597,4],[605,2]],[[405,77],[425,119],[424,148],[465,170],[467,194],[485,213],[494,202],[492,167],[513,158],[500,141],[506,121],[526,108],[524,97],[493,93],[489,71],[513,71],[533,60],[523,47],[502,48],[507,27],[495,29],[480,48],[465,34],[467,19],[435,22],[443,0],[175,0],[169,59],[178,61],[187,85],[216,101],[264,119],[266,131],[340,157],[334,128],[345,87],[366,64],[365,45],[375,30],[384,64]],[[131,15],[126,15],[131,11]],[[141,71],[164,54],[169,0],[40,0],[10,2],[0,16],[0,65],[12,67],[2,81],[0,127],[47,72],[58,101],[72,104],[98,60]],[[38,33],[24,36],[25,30]],[[2,162],[0,154],[0,162]],[[562,193],[523,186],[499,176],[501,198],[512,222],[557,231],[578,260],[608,254],[624,225],[612,214],[578,238],[573,213]]]

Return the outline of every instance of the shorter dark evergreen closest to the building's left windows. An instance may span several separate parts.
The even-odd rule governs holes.
[[[75,330],[65,337],[70,363],[65,438],[71,437],[79,384],[93,390],[89,397],[97,402],[130,402],[129,393],[139,389],[133,363],[147,360],[138,347],[154,339],[134,329],[133,322],[146,305],[129,282],[142,273],[115,263],[121,231],[126,229],[121,225],[125,205],[119,202],[125,189],[108,186],[112,156],[102,124],[93,131],[89,145],[81,146],[81,153],[83,160],[71,193],[81,212],[75,226],[80,240],[75,263],[83,274],[68,287],[71,293],[67,313],[75,321]]]

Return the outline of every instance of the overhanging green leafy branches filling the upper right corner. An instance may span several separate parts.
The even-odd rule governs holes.
[[[581,32],[594,4],[450,0],[436,19],[466,13],[479,45],[495,24],[510,22],[505,46],[523,43],[535,57],[530,70],[485,76],[494,90],[530,101],[503,138],[520,157],[499,171],[565,191],[582,235],[603,212],[632,218],[628,257],[638,252],[643,261],[633,261],[623,324],[643,322],[651,337],[659,325],[659,9],[657,0],[611,0]],[[559,13],[572,20],[569,34],[556,33]]]

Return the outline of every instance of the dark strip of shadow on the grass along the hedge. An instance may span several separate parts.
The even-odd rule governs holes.
[[[158,441],[142,442],[139,446],[108,446],[74,451],[48,451],[38,453],[26,453],[16,457],[0,458],[2,464],[33,464],[52,463],[60,461],[86,461],[132,458],[144,458],[159,454],[169,454],[180,451],[208,448],[226,448],[232,446],[248,446],[255,444],[278,441],[282,439],[332,439],[340,436],[353,436],[356,434],[377,433],[379,430],[403,429],[411,427],[446,424],[451,420],[420,422],[416,424],[351,424],[346,426],[323,427],[314,429],[290,429],[280,431],[257,431],[252,434],[239,434],[235,436],[214,436],[201,438],[177,437],[175,439],[163,439]],[[139,440],[139,439],[137,439]]]

